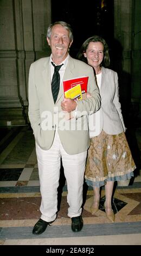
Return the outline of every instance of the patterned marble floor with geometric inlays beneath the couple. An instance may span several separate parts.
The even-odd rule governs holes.
[[[84,184],[84,228],[73,233],[67,216],[67,184],[61,168],[57,219],[40,236],[32,234],[40,218],[41,202],[33,132],[29,126],[23,126],[9,129],[3,135],[0,143],[0,245],[141,245],[140,127],[129,143],[137,166],[135,177],[129,186],[116,186],[114,192],[115,222],[106,218],[104,189],[100,209],[91,215],[93,191]]]

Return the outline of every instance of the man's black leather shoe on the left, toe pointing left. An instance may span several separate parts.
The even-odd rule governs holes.
[[[35,224],[34,228],[33,228],[33,234],[34,235],[40,235],[42,234],[46,228],[47,225],[50,225],[51,223],[53,223],[54,221],[51,222],[47,222],[47,221],[43,221],[41,218],[39,221],[37,221],[37,223]]]

